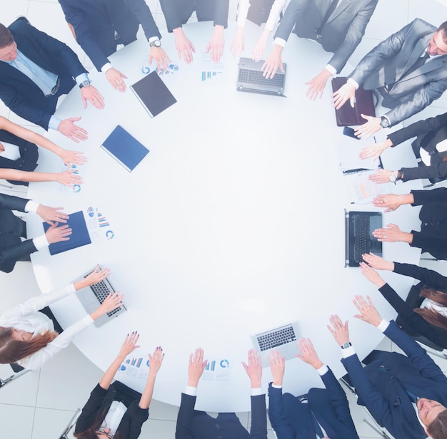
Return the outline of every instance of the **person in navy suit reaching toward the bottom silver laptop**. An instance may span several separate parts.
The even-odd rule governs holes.
[[[282,392],[285,358],[273,350],[267,357],[273,382],[268,386],[268,417],[278,439],[358,439],[348,399],[328,366],[318,358],[309,339],[300,339],[302,361],[321,376],[325,388],[311,388],[306,395]],[[296,377],[299,379],[299,377]]]

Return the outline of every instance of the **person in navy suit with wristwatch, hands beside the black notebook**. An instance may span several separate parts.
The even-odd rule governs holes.
[[[79,46],[115,90],[126,90],[126,76],[107,57],[118,44],[126,46],[135,41],[140,24],[149,41],[149,64],[155,61],[160,70],[169,68],[159,28],[144,0],[59,0],[59,4]]]

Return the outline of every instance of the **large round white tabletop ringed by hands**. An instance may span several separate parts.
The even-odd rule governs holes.
[[[330,86],[321,101],[305,98],[304,82],[321,71],[330,54],[293,35],[283,53],[287,98],[238,93],[238,60],[229,52],[233,24],[226,30],[224,73],[215,85],[201,83],[201,51],[211,23],[184,29],[197,50],[194,63],[178,61],[174,36],[164,36],[163,46],[179,71],[163,79],[178,102],[156,118],[149,118],[129,88],[124,94],[114,91],[100,73],[91,78],[106,98],[105,110],[90,105],[83,110],[77,87],[60,105],[61,118],[82,115],[79,125],[89,131],[89,140],[76,145],[59,133],[49,137],[86,153],[85,183],[76,194],[55,183],[31,184],[29,197],[68,213],[98,207],[115,237],[56,256],[44,249],[31,258],[44,292],[96,263],[111,268],[129,311],[74,340],[97,366],[105,370],[125,334],[138,330],[141,348],[134,357],[146,359],[159,345],[166,352],[154,398],[179,404],[189,353],[201,346],[206,358],[225,370],[221,379],[218,371],[202,379],[196,408],[244,411],[250,408],[250,389],[241,361],[246,361],[252,334],[299,319],[322,361],[342,376],[340,349],[326,329],[328,316],[350,319],[351,341],[363,357],[381,334],[352,319],[353,295],[370,294],[385,318],[395,313],[358,269],[344,268],[343,210],[376,208],[349,203],[337,148],[346,137],[335,124]],[[258,32],[247,24],[247,53]],[[143,76],[148,46],[139,40],[111,56],[129,77],[128,86]],[[131,173],[100,148],[117,124],[151,150]],[[380,134],[384,138],[386,133]],[[398,167],[414,164],[406,146],[386,151],[383,160],[388,169],[396,169],[395,162]],[[39,162],[38,170],[61,167],[58,157],[46,151]],[[420,187],[419,182],[399,183],[396,192]],[[417,229],[417,214],[401,207],[383,215],[383,224]],[[30,218],[28,224],[29,236],[41,233],[39,219]],[[420,254],[403,243],[385,243],[383,252],[386,259],[410,263],[417,263]],[[393,273],[383,277],[402,296],[412,284]],[[52,309],[62,326],[84,315],[76,296]],[[119,379],[140,391],[144,386],[144,380],[125,373]],[[264,369],[264,389],[268,381],[270,371]],[[287,361],[285,391],[302,394],[311,386],[321,386],[316,372],[297,358]]]

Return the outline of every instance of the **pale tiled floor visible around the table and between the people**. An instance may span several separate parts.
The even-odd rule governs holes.
[[[164,28],[166,24],[161,15],[158,0],[146,0],[156,17],[157,24]],[[6,3],[6,0],[4,0]],[[1,21],[9,24],[16,16],[24,15],[39,29],[59,38],[71,46],[79,54],[86,68],[91,62],[82,53],[73,40],[64,21],[61,8],[56,0],[14,0],[8,1],[2,9]],[[231,0],[230,17],[234,16],[237,0]],[[390,33],[400,29],[416,17],[432,24],[439,24],[447,19],[446,0],[379,0],[366,36],[351,58],[355,64],[366,51]],[[231,36],[226,36],[226,47],[231,46]],[[175,54],[171,54],[174,59]],[[348,73],[348,72],[347,72]],[[318,105],[318,104],[316,104]],[[447,109],[447,95],[436,100],[431,108],[419,113],[413,120],[429,115],[443,113]],[[11,118],[17,123],[29,125],[0,103],[0,115]],[[411,120],[410,120],[411,121]],[[427,264],[432,264],[428,262]],[[447,263],[433,264],[438,271],[447,274]],[[0,282],[4,289],[0,311],[24,301],[39,289],[34,280],[30,264],[19,263],[11,274],[0,273]],[[393,350],[389,341],[383,341],[381,348]],[[439,361],[443,371],[447,372],[447,361]],[[9,366],[0,365],[0,376],[9,376]],[[101,371],[86,359],[73,345],[64,349],[41,371],[27,373],[24,377],[11,383],[0,391],[0,437],[14,439],[49,439],[59,438],[59,434],[73,415],[76,408],[83,406],[91,388],[99,381]],[[351,396],[348,396],[350,400]],[[361,438],[377,438],[371,428],[363,423],[363,409],[351,402],[354,422]],[[144,424],[141,438],[174,438],[175,420],[178,408],[158,401],[151,403],[149,420]],[[248,425],[249,413],[238,413],[243,424]],[[268,438],[275,438],[272,430]]]

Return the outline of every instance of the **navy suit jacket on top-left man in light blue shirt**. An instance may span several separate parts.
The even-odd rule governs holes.
[[[15,21],[8,29],[19,51],[41,68],[58,75],[68,89],[74,86],[76,76],[87,73],[69,46],[26,21]],[[49,108],[44,93],[28,76],[4,62],[0,62],[0,98],[14,113],[48,130],[54,108]]]

